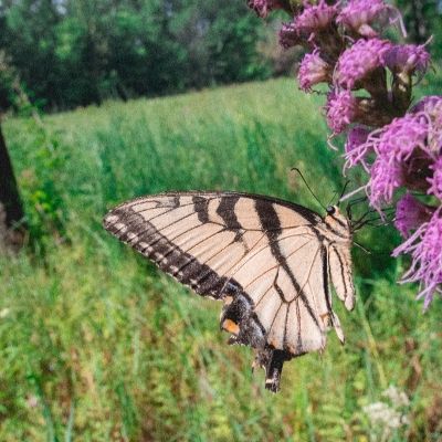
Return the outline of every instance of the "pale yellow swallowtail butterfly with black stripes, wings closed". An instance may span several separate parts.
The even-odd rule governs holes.
[[[236,192],[170,192],[125,202],[104,219],[120,241],[199,295],[222,301],[229,344],[256,351],[265,387],[280,388],[284,361],[323,350],[335,328],[330,283],[355,304],[350,222],[337,207],[318,213]]]

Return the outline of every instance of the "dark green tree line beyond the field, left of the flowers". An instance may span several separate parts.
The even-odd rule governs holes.
[[[0,50],[51,110],[262,77],[262,32],[242,0],[0,1]]]

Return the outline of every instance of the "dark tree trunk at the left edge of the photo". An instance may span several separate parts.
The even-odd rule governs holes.
[[[0,125],[0,251],[20,248],[24,231],[23,206]]]

